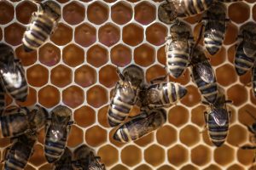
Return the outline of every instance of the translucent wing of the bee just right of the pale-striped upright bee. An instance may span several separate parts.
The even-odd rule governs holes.
[[[215,75],[211,65],[206,65],[205,62],[196,64],[196,71],[204,82],[214,82]]]

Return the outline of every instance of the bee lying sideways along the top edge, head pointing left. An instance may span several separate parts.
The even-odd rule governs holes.
[[[158,9],[160,21],[170,24],[177,17],[189,17],[201,14],[207,10],[215,0],[166,0]]]

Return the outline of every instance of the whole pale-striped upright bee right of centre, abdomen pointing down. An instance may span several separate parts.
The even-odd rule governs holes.
[[[182,21],[170,28],[170,37],[166,37],[166,65],[172,77],[180,77],[189,65],[189,38],[191,28]]]

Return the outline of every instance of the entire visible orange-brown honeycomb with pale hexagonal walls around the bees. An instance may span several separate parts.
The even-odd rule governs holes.
[[[49,111],[56,105],[67,105],[76,122],[67,146],[74,150],[79,144],[89,144],[110,170],[248,169],[254,151],[237,146],[249,142],[245,125],[252,124],[253,119],[246,111],[256,112],[256,99],[251,91],[251,72],[238,77],[233,61],[239,27],[248,20],[256,21],[255,0],[226,3],[230,22],[224,46],[214,56],[207,54],[219,85],[233,100],[229,105],[230,132],[223,146],[212,146],[207,131],[203,131],[206,106],[201,105],[201,94],[188,69],[183,77],[168,77],[186,86],[188,94],[167,109],[163,127],[136,142],[120,144],[113,140],[107,111],[119,79],[116,66],[140,65],[147,82],[166,75],[164,46],[169,26],[158,19],[160,1],[58,0],[62,16],[55,33],[37,51],[26,54],[21,38],[37,5],[27,0],[0,0],[0,40],[15,49],[29,83],[26,101],[15,103],[7,96],[7,105],[39,104]],[[197,37],[201,14],[185,20]],[[138,112],[134,108],[131,115]],[[1,155],[9,144],[9,139],[0,139]],[[42,130],[26,170],[51,168],[44,158]]]

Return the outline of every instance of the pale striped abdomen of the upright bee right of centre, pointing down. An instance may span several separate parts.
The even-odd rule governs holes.
[[[172,50],[168,54],[167,66],[172,77],[180,77],[189,65],[189,52]]]

